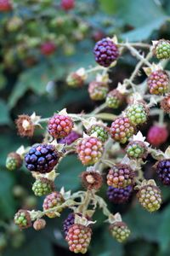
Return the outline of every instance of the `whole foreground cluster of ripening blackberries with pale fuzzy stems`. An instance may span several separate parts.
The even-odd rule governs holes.
[[[64,10],[72,9],[73,3],[74,1],[66,1],[65,6],[61,4],[60,7]],[[54,21],[56,20],[53,20],[53,25]],[[61,21],[63,22],[58,20]],[[83,26],[81,29],[84,29]],[[44,42],[45,39],[42,43]],[[165,41],[161,40],[156,44],[155,52],[158,59],[167,59],[169,42],[166,42],[166,45],[164,43]],[[144,48],[144,54],[141,54],[140,48]],[[111,82],[109,72],[116,65],[119,55],[127,49],[139,62],[132,75],[128,79],[122,79],[122,84],[118,83],[115,89],[108,93],[108,84]],[[20,115],[16,120],[20,135],[33,137],[31,141],[34,143],[37,138],[34,137],[34,132],[38,127],[43,128],[48,124],[43,133],[42,143],[27,148],[22,146],[16,150],[16,153],[8,155],[7,168],[9,170],[19,168],[20,155],[21,160],[25,159],[26,168],[31,171],[29,173],[36,179],[32,185],[33,192],[37,196],[46,195],[42,203],[42,211],[33,210],[32,204],[29,205],[28,200],[24,201],[23,206],[26,207],[27,204],[31,210],[19,210],[15,214],[14,223],[20,229],[30,227],[33,223],[35,230],[42,230],[46,226],[43,216],[59,218],[65,208],[71,209],[71,214],[64,223],[65,240],[71,252],[86,253],[96,221],[94,216],[98,216],[94,213],[98,207],[99,213],[104,213],[111,235],[116,241],[126,241],[130,235],[130,230],[122,221],[121,214],[111,212],[107,201],[101,196],[102,193],[98,194],[99,189],[101,192],[105,189],[105,184],[109,186],[106,192],[108,200],[113,203],[127,202],[133,191],[137,190],[139,204],[145,210],[156,212],[161,208],[163,201],[161,189],[153,179],[144,178],[153,174],[143,170],[146,163],[144,158],[149,154],[152,161],[156,160],[154,166],[161,183],[170,184],[170,148],[168,147],[165,152],[154,148],[165,143],[168,137],[164,116],[167,118],[166,113],[169,113],[169,80],[165,71],[166,61],[153,64],[150,61],[151,51],[150,44],[119,43],[116,38],[101,39],[94,46],[95,60],[99,66],[88,69],[80,67],[77,71],[68,74],[67,84],[71,87],[79,87],[79,90],[87,90],[88,81],[91,98],[103,100],[106,97],[105,102],[95,103],[96,108],[90,113],[84,113],[83,109],[80,113],[66,113],[64,108],[59,109],[60,112],[54,113],[51,118],[42,118],[33,113],[31,116]],[[49,53],[50,50],[45,55]],[[134,79],[143,67],[149,78],[145,76],[141,84],[135,84],[138,79]],[[81,89],[82,84],[84,84],[83,89]],[[152,95],[148,94],[147,85]],[[166,95],[163,96],[165,93]],[[122,104],[123,102],[127,105]],[[157,104],[158,102],[161,102],[161,106]],[[126,105],[123,111],[120,109],[121,105],[122,108]],[[108,107],[117,110],[112,113],[111,109],[107,111]],[[152,116],[158,118],[158,122],[148,129],[146,124]],[[142,132],[138,131],[139,125],[144,125],[142,129],[144,134],[147,134],[148,142],[145,141]],[[123,143],[127,143],[127,146],[122,146]],[[71,154],[76,154],[82,165],[88,166],[79,175],[83,189],[74,192],[65,191],[64,183],[61,184],[60,191],[54,191],[55,180],[59,175],[63,175],[58,173],[58,166],[61,160],[66,161],[65,157],[68,154],[69,157]],[[147,159],[148,162],[150,158]],[[69,175],[73,176],[73,173],[70,172]],[[77,177],[73,178],[77,182]],[[68,177],[69,182],[70,177]],[[19,188],[18,191],[15,189],[15,196],[21,196],[22,193],[22,189]],[[131,204],[128,207],[131,207]]]

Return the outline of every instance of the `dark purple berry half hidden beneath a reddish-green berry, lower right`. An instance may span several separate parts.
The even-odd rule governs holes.
[[[132,192],[133,192],[132,186],[127,186],[124,189],[117,189],[117,188],[113,188],[110,186],[107,189],[107,196],[110,201],[112,201],[116,204],[121,204],[121,203],[125,203],[128,201]]]

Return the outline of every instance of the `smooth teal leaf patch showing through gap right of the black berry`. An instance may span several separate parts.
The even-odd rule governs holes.
[[[76,190],[80,187],[80,174],[84,170],[82,163],[77,159],[77,155],[68,155],[60,163],[57,172],[56,186],[65,190]]]

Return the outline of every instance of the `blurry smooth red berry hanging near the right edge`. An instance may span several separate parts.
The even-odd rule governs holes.
[[[154,125],[150,127],[147,134],[147,141],[154,147],[160,146],[167,141],[168,131],[166,126]]]

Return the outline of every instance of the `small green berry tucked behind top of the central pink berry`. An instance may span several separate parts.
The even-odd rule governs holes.
[[[109,129],[105,125],[94,124],[90,126],[87,131],[88,135],[91,136],[94,132],[97,133],[97,137],[102,143],[105,143],[109,137]]]

